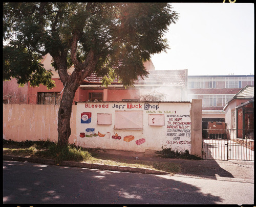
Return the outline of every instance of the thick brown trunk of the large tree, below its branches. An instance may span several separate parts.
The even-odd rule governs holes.
[[[78,87],[79,84],[67,81],[63,90],[58,112],[58,147],[67,147],[69,144],[69,137],[71,135],[70,117],[75,92]]]

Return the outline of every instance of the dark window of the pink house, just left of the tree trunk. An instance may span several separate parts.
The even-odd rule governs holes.
[[[59,105],[60,104],[60,92],[38,92],[37,104],[40,105]]]

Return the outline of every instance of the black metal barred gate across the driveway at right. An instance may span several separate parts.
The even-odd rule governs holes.
[[[203,130],[202,158],[254,161],[254,130]]]

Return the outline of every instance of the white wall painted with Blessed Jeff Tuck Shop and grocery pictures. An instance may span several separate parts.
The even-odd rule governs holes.
[[[82,147],[145,151],[191,149],[189,102],[78,102]]]

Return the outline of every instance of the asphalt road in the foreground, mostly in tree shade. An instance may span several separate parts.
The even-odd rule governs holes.
[[[254,184],[3,162],[3,202],[253,204]]]

